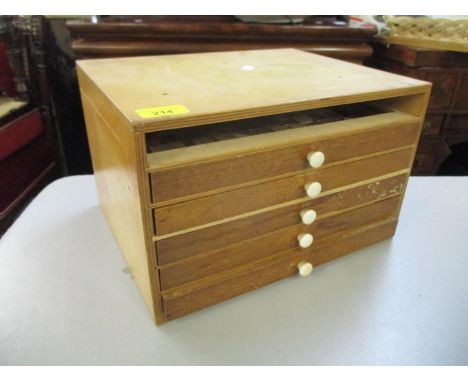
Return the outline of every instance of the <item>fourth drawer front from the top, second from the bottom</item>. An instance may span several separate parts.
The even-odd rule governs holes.
[[[177,287],[181,284],[202,279],[219,272],[258,261],[291,250],[301,250],[298,235],[311,234],[313,242],[308,248],[314,249],[326,238],[369,225],[381,220],[395,218],[400,205],[400,198],[393,197],[365,207],[322,219],[311,225],[294,226],[270,232],[269,234],[231,245],[206,255],[170,264],[160,268],[161,289]],[[308,243],[307,243],[308,244]]]

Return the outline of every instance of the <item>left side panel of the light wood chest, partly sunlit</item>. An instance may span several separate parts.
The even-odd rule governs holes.
[[[145,178],[141,159],[146,155],[139,150],[137,133],[128,121],[79,69],[78,78],[101,208],[145,303],[161,323],[158,273],[153,245],[147,241],[151,242],[152,230],[144,218],[147,201],[141,188]]]

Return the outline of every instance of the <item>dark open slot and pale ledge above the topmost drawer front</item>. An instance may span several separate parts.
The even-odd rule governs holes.
[[[334,115],[337,107],[331,107],[317,109],[320,111],[317,112],[318,116],[309,116],[310,113],[315,114],[315,109],[312,109],[201,125],[189,129],[147,133],[148,171],[206,162],[255,150],[263,151],[272,147],[299,145],[304,141],[309,143],[323,141],[368,129],[418,121],[418,117],[400,111],[397,107],[390,109],[388,103],[395,103],[395,99],[393,102],[386,100],[346,105],[346,110],[351,113],[366,106],[374,112],[363,115],[353,113],[354,115],[348,114],[339,118]],[[251,139],[252,137],[256,139]],[[257,139],[259,137],[261,139]],[[218,144],[217,141],[222,143]]]

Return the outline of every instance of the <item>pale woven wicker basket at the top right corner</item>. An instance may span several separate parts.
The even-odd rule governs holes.
[[[385,16],[389,31],[382,39],[394,44],[468,52],[468,19]]]

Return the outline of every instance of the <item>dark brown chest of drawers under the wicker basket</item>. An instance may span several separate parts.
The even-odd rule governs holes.
[[[413,174],[437,174],[451,151],[468,142],[468,54],[384,43],[374,48],[369,65],[432,82]],[[466,157],[468,147],[464,152]],[[460,169],[459,174],[467,173]]]

